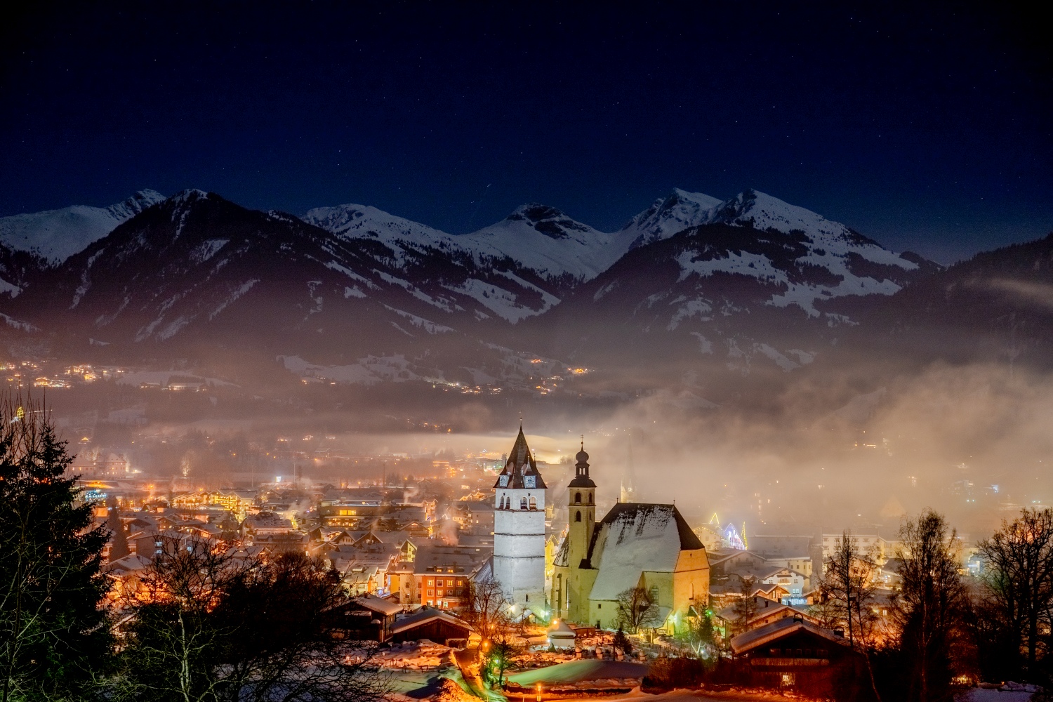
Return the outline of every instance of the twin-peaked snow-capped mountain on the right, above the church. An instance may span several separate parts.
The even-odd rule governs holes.
[[[939,269],[762,193],[703,209],[708,201],[676,190],[656,202],[624,229],[639,233],[638,245],[522,332],[571,358],[691,348],[737,370],[751,359],[790,370],[858,323],[860,300]],[[698,223],[671,234],[687,222]]]

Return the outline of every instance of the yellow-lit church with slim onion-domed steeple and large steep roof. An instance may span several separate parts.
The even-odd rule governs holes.
[[[570,525],[556,554],[549,598],[552,616],[617,628],[618,596],[640,586],[658,605],[652,626],[679,628],[709,602],[706,547],[672,504],[618,502],[597,522],[596,483],[583,444],[576,461]]]

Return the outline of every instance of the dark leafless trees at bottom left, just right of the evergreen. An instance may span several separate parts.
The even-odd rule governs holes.
[[[168,549],[130,599],[117,699],[375,702],[372,648],[337,636],[351,600],[303,554],[245,558],[190,540]]]

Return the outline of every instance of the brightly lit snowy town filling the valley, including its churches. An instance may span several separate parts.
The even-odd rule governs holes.
[[[146,597],[166,554],[303,554],[339,578],[353,602],[349,636],[382,646],[371,664],[397,671],[404,693],[450,679],[461,693],[614,696],[640,684],[661,689],[661,675],[700,680],[708,668],[717,689],[823,694],[865,665],[856,640],[874,646],[895,636],[890,603],[905,553],[895,529],[808,534],[716,514],[689,521],[675,492],[668,503],[637,502],[636,474],[593,466],[583,439],[573,459],[547,463],[522,428],[500,455],[429,462],[295,446],[313,439],[279,437],[273,458],[262,452],[284,475],[232,473],[212,488],[198,487],[207,480],[191,469],[160,484],[122,456],[78,454],[68,475],[113,535],[103,551],[111,606]],[[334,455],[363,478],[305,477],[304,466],[314,473]],[[979,575],[976,543],[956,536],[949,547],[963,578]],[[846,549],[847,596],[835,573]],[[862,595],[853,596],[853,582]],[[853,597],[871,611],[838,617]],[[853,623],[862,630],[849,630]],[[485,650],[494,642],[496,678]],[[731,667],[757,656],[769,658]],[[657,661],[684,658],[706,666],[659,666],[648,677]]]

